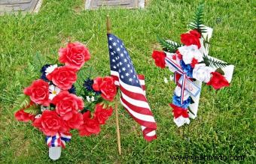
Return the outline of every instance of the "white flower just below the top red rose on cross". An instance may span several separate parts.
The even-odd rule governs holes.
[[[193,58],[197,59],[198,62],[203,61],[203,53],[200,52],[196,45],[181,46],[178,51],[181,53],[185,64],[190,64]]]

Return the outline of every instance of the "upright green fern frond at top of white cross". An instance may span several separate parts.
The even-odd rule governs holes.
[[[188,27],[193,30],[196,29],[201,34],[206,32],[206,28],[203,26],[203,4],[200,4],[200,6],[197,7],[197,11],[193,16],[193,21],[190,22]]]

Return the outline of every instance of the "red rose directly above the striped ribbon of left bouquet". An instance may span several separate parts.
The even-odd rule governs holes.
[[[55,111],[45,110],[41,118],[35,119],[33,126],[41,130],[46,136],[55,136],[56,133],[69,133],[66,122]]]

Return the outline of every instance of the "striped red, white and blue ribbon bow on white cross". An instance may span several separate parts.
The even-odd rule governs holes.
[[[165,58],[167,66],[171,66],[175,69],[175,77],[177,73],[181,75],[181,78],[174,78],[175,83],[181,85],[181,104],[184,101],[184,90],[186,89],[190,94],[197,96],[200,93],[200,87],[198,87],[194,82],[192,82],[188,77],[187,74],[182,70],[182,68],[176,64],[171,58]]]

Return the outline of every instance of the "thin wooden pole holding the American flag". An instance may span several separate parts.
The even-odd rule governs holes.
[[[107,34],[111,34],[111,23],[109,16],[107,16]],[[120,129],[119,129],[119,118],[118,118],[118,110],[117,110],[117,99],[114,100],[114,109],[115,109],[115,122],[117,126],[117,146],[118,146],[118,153],[121,155],[121,142],[120,142]]]

